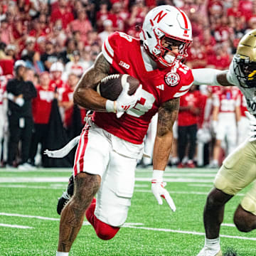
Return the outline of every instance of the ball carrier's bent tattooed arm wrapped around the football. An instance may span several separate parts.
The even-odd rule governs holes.
[[[106,112],[106,99],[101,97],[94,88],[110,72],[110,63],[100,53],[95,64],[82,75],[82,78],[75,87],[74,102],[89,110]]]

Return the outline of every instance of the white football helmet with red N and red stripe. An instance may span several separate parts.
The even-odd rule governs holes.
[[[157,6],[146,14],[139,37],[154,60],[172,67],[176,60],[187,56],[188,46],[192,42],[191,22],[183,11],[174,6]],[[161,43],[163,38],[168,47]],[[171,46],[178,46],[178,54],[172,52]],[[166,55],[168,51],[172,54]]]

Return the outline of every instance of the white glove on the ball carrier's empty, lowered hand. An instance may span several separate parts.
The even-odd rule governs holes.
[[[153,171],[153,178],[151,180],[151,191],[156,197],[156,200],[159,203],[159,205],[163,204],[162,198],[164,198],[166,202],[169,204],[171,210],[176,211],[176,206],[174,204],[173,199],[171,198],[169,192],[166,191],[166,189],[164,188],[166,186],[166,182],[163,182],[163,175],[164,171]]]

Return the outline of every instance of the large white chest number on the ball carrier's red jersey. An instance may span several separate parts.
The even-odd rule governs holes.
[[[141,117],[143,114],[151,110],[155,100],[155,97],[151,95],[151,93],[142,89],[142,97],[131,110],[127,111],[127,114],[130,114],[133,117]]]

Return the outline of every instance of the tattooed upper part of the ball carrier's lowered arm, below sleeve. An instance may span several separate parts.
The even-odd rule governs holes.
[[[164,102],[159,107],[159,117],[157,126],[157,136],[163,137],[166,132],[171,131],[178,116],[179,98]]]

